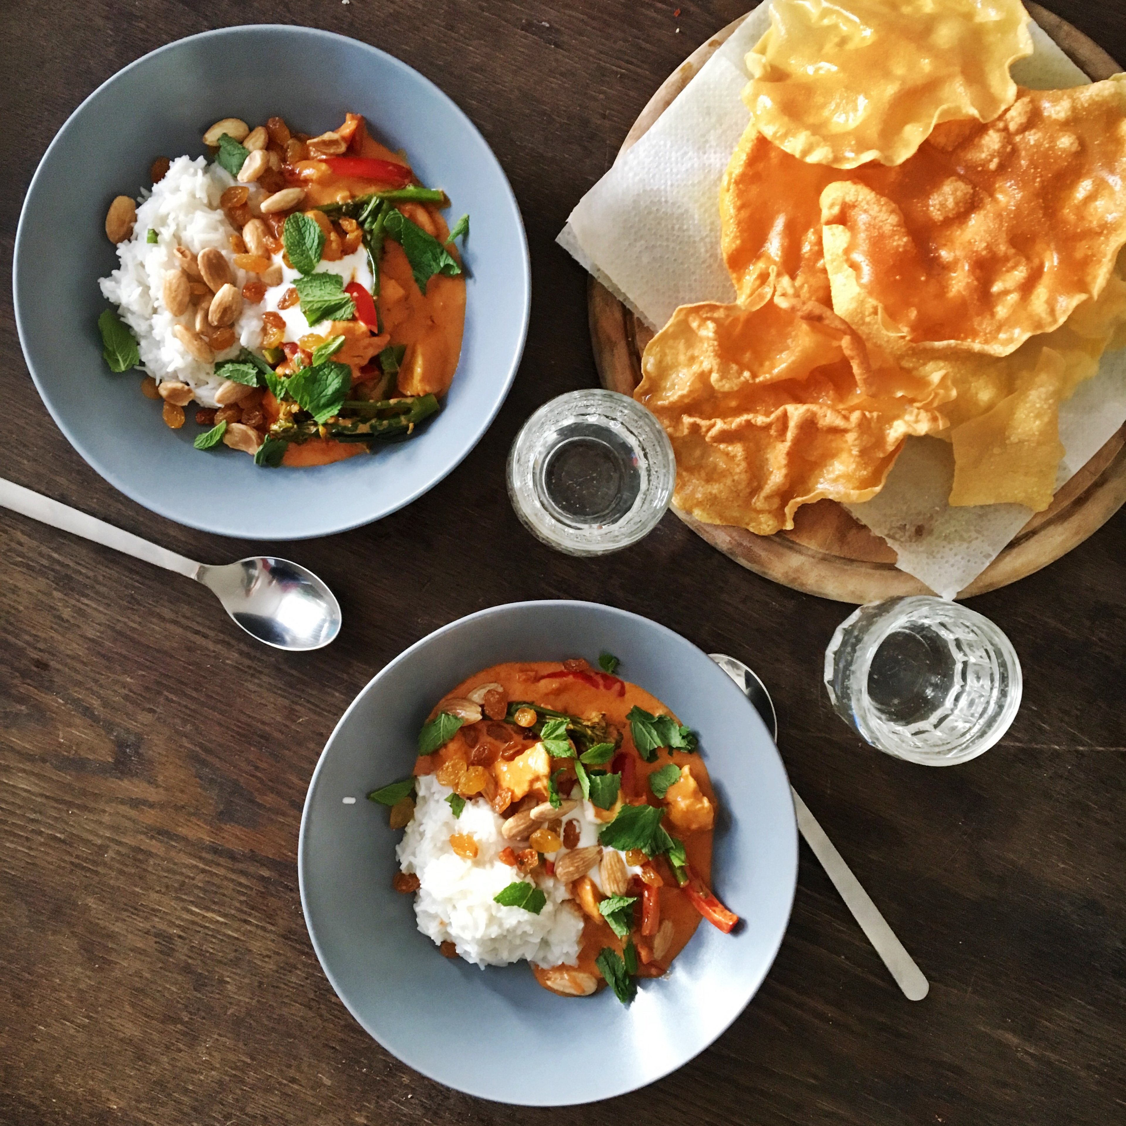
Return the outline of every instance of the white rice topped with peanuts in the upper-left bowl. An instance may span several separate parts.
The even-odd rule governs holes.
[[[141,347],[141,366],[158,383],[176,379],[188,384],[204,406],[217,406],[215,392],[223,381],[213,365],[188,355],[172,334],[176,324],[194,327],[195,309],[173,316],[164,305],[162,286],[166,274],[179,269],[172,254],[177,245],[198,254],[206,247],[221,250],[240,288],[250,275],[235,268],[230,236],[235,233],[218,205],[220,196],[236,181],[203,157],[178,157],[152,191],[143,195],[137,207],[133,235],[117,244],[120,262],[109,277],[101,278],[102,295],[118,306],[122,320],[133,330]],[[158,241],[148,241],[149,231]],[[235,343],[216,359],[238,356],[241,347],[259,348],[262,340],[262,306],[243,304],[233,325]]]

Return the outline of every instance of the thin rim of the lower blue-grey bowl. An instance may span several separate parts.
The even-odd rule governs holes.
[[[464,1094],[470,1094],[477,1099],[484,1099],[489,1102],[498,1102],[506,1106],[568,1107],[568,1106],[583,1106],[590,1102],[601,1102],[606,1099],[613,1099],[613,1098],[618,1098],[619,1096],[623,1094],[628,1094],[631,1091],[641,1090],[644,1087],[651,1087],[653,1083],[658,1082],[661,1079],[664,1079],[672,1072],[679,1071],[681,1067],[686,1066],[688,1063],[695,1060],[697,1055],[705,1052],[713,1044],[715,1044],[715,1042],[721,1036],[723,1036],[723,1034],[727,1031],[729,1028],[731,1028],[731,1026],[739,1019],[739,1017],[747,1011],[747,1006],[749,1006],[751,1001],[753,1001],[754,998],[758,997],[758,992],[762,988],[762,983],[766,981],[767,974],[769,974],[771,968],[774,968],[774,964],[778,958],[778,951],[781,949],[783,939],[786,937],[786,931],[789,929],[789,920],[794,913],[794,900],[797,896],[797,868],[798,868],[797,815],[794,811],[793,799],[788,799],[787,807],[790,814],[788,824],[790,826],[790,834],[794,843],[793,867],[787,876],[787,884],[789,885],[790,888],[789,902],[786,905],[785,920],[783,921],[783,924],[778,930],[777,939],[772,944],[770,957],[769,959],[767,959],[762,968],[762,973],[759,975],[759,978],[756,982],[754,988],[751,990],[750,995],[747,999],[747,1003],[739,1010],[739,1012],[732,1016],[731,1020],[726,1021],[726,1024],[724,1024],[721,1028],[717,1028],[715,1030],[715,1035],[707,1042],[707,1044],[704,1044],[698,1052],[690,1055],[687,1060],[681,1060],[678,1063],[671,1064],[670,1066],[664,1069],[660,1074],[654,1075],[652,1079],[646,1079],[641,1083],[623,1087],[620,1090],[613,1091],[609,1094],[600,1094],[595,1099],[587,1099],[580,1097],[575,1099],[562,1100],[558,1102],[524,1102],[509,1099],[498,1099],[495,1096],[491,1093],[484,1093],[481,1089],[470,1090],[468,1088],[464,1087],[457,1087],[457,1088],[450,1087],[450,1084],[447,1083],[440,1075],[434,1074],[432,1070],[430,1070],[428,1066],[420,1065],[420,1063],[417,1062],[415,1060],[406,1058],[405,1055],[401,1055],[395,1048],[391,1047],[390,1044],[385,1043],[382,1036],[377,1036],[374,1031],[372,1031],[370,1028],[368,1028],[368,1026],[365,1024],[359,1013],[356,1012],[356,1010],[352,1008],[349,1000],[341,993],[340,989],[337,985],[337,981],[332,971],[325,964],[324,955],[321,951],[321,944],[319,942],[316,935],[314,933],[313,930],[309,901],[305,894],[305,840],[306,840],[306,830],[309,825],[309,815],[310,815],[309,811],[313,799],[313,790],[316,788],[316,783],[318,779],[320,778],[321,768],[324,766],[325,759],[329,753],[329,749],[331,748],[333,740],[337,738],[338,732],[340,732],[340,730],[349,721],[352,712],[359,705],[360,697],[368,691],[368,689],[376,680],[385,676],[391,669],[395,668],[403,661],[408,660],[408,658],[410,658],[415,650],[419,650],[425,645],[431,644],[438,637],[449,633],[452,629],[455,629],[458,626],[463,626],[466,623],[473,622],[477,618],[489,617],[490,615],[498,614],[503,610],[520,610],[520,609],[528,609],[531,607],[562,607],[562,606],[593,607],[600,611],[606,611],[611,615],[617,615],[625,618],[634,618],[635,620],[644,622],[646,626],[650,626],[662,634],[669,634],[670,636],[676,637],[678,641],[682,641],[691,645],[692,649],[697,650],[700,653],[700,655],[708,662],[708,664],[712,664],[716,669],[716,671],[721,672],[721,674],[725,679],[730,679],[727,678],[727,674],[723,672],[723,670],[720,669],[718,665],[716,665],[715,662],[712,661],[712,659],[707,655],[707,653],[704,652],[704,650],[701,650],[695,642],[688,641],[688,638],[685,637],[682,634],[678,634],[674,629],[670,629],[667,625],[662,625],[660,622],[654,622],[652,618],[646,618],[643,614],[634,614],[632,610],[623,610],[619,609],[617,606],[608,606],[605,602],[590,602],[582,599],[573,599],[573,598],[526,599],[520,602],[502,602],[499,606],[488,606],[482,610],[475,610],[473,614],[466,614],[461,618],[455,618],[453,622],[448,622],[446,623],[446,625],[439,626],[437,629],[431,631],[425,637],[420,637],[417,642],[409,645],[396,656],[392,658],[385,665],[383,665],[382,669],[379,669],[378,672],[375,673],[374,677],[372,677],[367,681],[366,685],[364,685],[363,688],[360,688],[360,690],[352,698],[352,701],[348,705],[347,708],[345,708],[343,714],[337,721],[336,726],[332,729],[331,734],[329,735],[328,740],[325,740],[324,748],[316,760],[316,766],[313,768],[313,775],[309,780],[309,789],[305,792],[305,803],[301,811],[301,830],[297,835],[297,888],[301,895],[302,915],[305,919],[305,930],[309,932],[309,939],[310,942],[312,942],[313,953],[316,955],[316,960],[318,963],[320,963],[321,971],[328,978],[329,984],[332,986],[332,992],[337,994],[337,998],[351,1015],[356,1024],[359,1025],[359,1027],[363,1028],[364,1031],[367,1033],[367,1035],[370,1036],[372,1039],[374,1039],[381,1047],[390,1052],[400,1063],[405,1064],[412,1071],[417,1071],[420,1075],[423,1075],[436,1083],[441,1083],[443,1087],[446,1087],[449,1090],[462,1091]],[[748,709],[754,715],[756,720],[760,724],[762,724],[762,729],[763,731],[766,731],[766,724],[763,723],[762,717],[756,711],[754,705],[750,701],[750,699],[745,696],[744,692],[740,691],[738,685],[732,682],[732,687],[735,689],[735,691],[740,692],[740,695],[747,703]],[[781,770],[783,778],[786,780],[786,793],[788,797],[789,775],[786,771],[786,763],[783,761],[781,752],[778,750],[777,743],[775,743],[775,741],[770,738],[770,732],[766,731],[766,735],[767,735],[767,742],[770,744],[770,748],[774,751],[775,758],[777,760],[778,767]]]

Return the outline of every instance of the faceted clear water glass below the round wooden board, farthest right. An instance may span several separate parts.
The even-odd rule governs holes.
[[[974,610],[913,596],[861,606],[825,651],[833,708],[873,747],[942,767],[988,751],[1020,706],[1009,638]]]

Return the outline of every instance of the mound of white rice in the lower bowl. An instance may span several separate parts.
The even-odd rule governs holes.
[[[431,775],[418,779],[414,817],[396,849],[403,872],[414,873],[419,930],[435,942],[452,941],[457,953],[479,966],[502,966],[526,958],[539,966],[574,965],[582,938],[582,917],[553,876],[538,875],[547,896],[539,914],[506,908],[493,896],[521,877],[498,859],[508,841],[503,821],[482,798],[465,803],[458,819],[446,802],[452,790]],[[453,833],[471,833],[477,842],[473,860],[449,844]]]

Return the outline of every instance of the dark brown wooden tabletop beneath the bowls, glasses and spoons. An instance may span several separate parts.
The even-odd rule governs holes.
[[[821,660],[841,605],[740,569],[672,516],[586,562],[542,547],[509,508],[502,470],[521,420],[597,382],[586,279],[553,239],[655,87],[742,7],[678,2],[679,18],[678,3],[632,0],[0,6],[6,276],[35,163],[87,93],[171,39],[282,20],[384,47],[467,110],[516,189],[535,284],[520,375],[466,462],[405,511],[285,549],[343,605],[322,653],[266,650],[200,588],[0,511],[5,1126],[1126,1119],[1126,515],[973,600],[1012,638],[1025,704],[983,758],[929,770],[863,745],[829,711]],[[1055,7],[1126,59],[1126,0]],[[87,467],[28,378],[7,287],[0,347],[0,475],[197,558],[257,549],[169,524]],[[409,578],[390,589],[387,574]],[[420,1078],[366,1036],[301,915],[309,776],[387,660],[463,614],[528,598],[647,614],[762,673],[793,780],[931,980],[926,1001],[903,1000],[803,846],[759,995],[642,1092],[508,1108]],[[519,1065],[520,1045],[497,1051]],[[591,1066],[613,1066],[613,1045],[591,1045]]]

